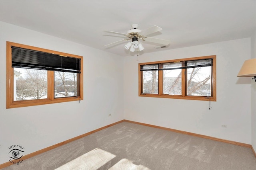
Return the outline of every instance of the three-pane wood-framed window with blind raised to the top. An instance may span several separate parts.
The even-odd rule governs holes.
[[[216,56],[140,63],[139,96],[216,101]]]

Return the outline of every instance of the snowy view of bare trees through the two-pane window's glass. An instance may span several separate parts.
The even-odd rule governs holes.
[[[15,68],[22,71],[16,78],[15,100],[47,98],[47,71]],[[54,72],[55,98],[77,96],[77,73]]]

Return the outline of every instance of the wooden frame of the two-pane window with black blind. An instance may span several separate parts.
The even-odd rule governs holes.
[[[65,97],[54,98],[54,71],[47,71],[47,98],[46,99],[34,99],[34,100],[18,100],[14,101],[14,68],[12,67],[12,48],[11,46],[20,47],[24,49],[30,49],[35,51],[42,51],[45,53],[54,53],[62,56],[70,56],[80,59],[81,73],[79,75],[79,96],[78,97]],[[78,55],[72,55],[68,53],[62,53],[58,51],[52,51],[48,49],[42,49],[29,45],[23,45],[6,41],[6,108],[36,106],[44,104],[53,104],[60,102],[72,102],[83,100],[83,57]]]

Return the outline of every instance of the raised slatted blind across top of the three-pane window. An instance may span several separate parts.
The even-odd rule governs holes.
[[[212,66],[212,59],[148,64],[148,65],[140,66],[140,71],[174,70],[174,69],[195,68],[195,67],[205,67],[205,66]]]

